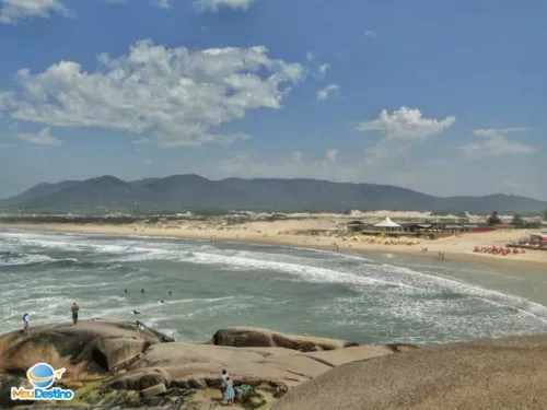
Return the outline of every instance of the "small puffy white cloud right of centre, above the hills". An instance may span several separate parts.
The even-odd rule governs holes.
[[[400,107],[380,117],[358,125],[357,131],[383,131],[377,144],[368,150],[369,161],[396,159],[428,138],[439,134],[454,125],[455,117],[444,119],[424,118],[417,108]]]

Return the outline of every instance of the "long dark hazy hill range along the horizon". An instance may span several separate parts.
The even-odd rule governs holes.
[[[0,201],[0,209],[84,214],[183,210],[345,212],[352,209],[538,213],[547,209],[547,202],[508,195],[440,198],[387,185],[315,179],[210,180],[198,175],[174,175],[135,181],[102,176],[83,181],[38,184]]]

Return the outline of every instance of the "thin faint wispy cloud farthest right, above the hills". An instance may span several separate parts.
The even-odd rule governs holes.
[[[478,129],[473,133],[482,139],[477,143],[469,143],[461,147],[459,149],[470,160],[478,160],[482,157],[497,157],[503,155],[523,155],[533,154],[536,150],[533,147],[522,144],[520,142],[512,142],[507,134],[513,132],[524,132],[526,128],[489,128]]]

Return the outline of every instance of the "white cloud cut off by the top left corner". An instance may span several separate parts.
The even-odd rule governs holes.
[[[51,14],[70,15],[59,0],[1,0],[0,23],[16,24],[23,19],[49,19]]]

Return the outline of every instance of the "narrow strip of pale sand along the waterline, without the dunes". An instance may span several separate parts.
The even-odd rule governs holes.
[[[295,224],[302,221],[294,221]],[[161,226],[161,225],[143,225],[143,224],[73,224],[73,223],[4,223],[0,222],[0,229],[15,229],[27,231],[42,232],[62,232],[77,234],[96,234],[112,236],[150,236],[150,237],[172,237],[187,241],[207,241],[207,242],[237,242],[259,245],[277,245],[289,246],[301,249],[321,249],[340,251],[344,254],[358,254],[365,256],[366,254],[396,254],[400,256],[416,257],[422,260],[439,261],[439,253],[445,254],[445,261],[462,261],[490,267],[520,267],[520,268],[545,268],[547,266],[547,251],[529,250],[522,255],[489,255],[473,253],[474,246],[499,245],[499,237],[493,237],[490,234],[467,234],[461,237],[447,237],[437,241],[420,241],[415,245],[385,245],[385,244],[369,244],[360,242],[344,241],[340,237],[331,236],[310,236],[302,234],[288,234],[282,231],[269,230],[249,230],[251,224],[242,224],[237,227],[201,227],[201,226]],[[268,224],[268,223],[266,223]],[[261,224],[264,225],[264,223]],[[268,227],[275,223],[269,223]],[[264,226],[260,226],[264,229]],[[521,233],[519,233],[521,234]],[[490,241],[490,242],[489,242]],[[501,242],[504,242],[502,239]],[[509,241],[508,241],[509,242]],[[492,244],[493,243],[493,244]],[[334,246],[337,245],[337,248]],[[466,246],[468,251],[462,250]],[[422,253],[423,248],[428,248],[428,253]]]

